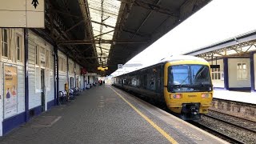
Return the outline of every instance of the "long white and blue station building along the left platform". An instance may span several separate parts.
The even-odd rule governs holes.
[[[1,28],[0,40],[0,135],[57,105],[65,86],[86,90],[96,79],[33,30]]]

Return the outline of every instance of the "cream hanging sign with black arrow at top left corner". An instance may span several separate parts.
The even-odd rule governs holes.
[[[45,28],[45,0],[2,0],[0,27]]]

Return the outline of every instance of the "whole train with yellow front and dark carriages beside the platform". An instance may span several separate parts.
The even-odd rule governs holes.
[[[165,58],[114,77],[113,86],[162,103],[184,120],[198,120],[207,114],[213,99],[209,62],[190,55]]]

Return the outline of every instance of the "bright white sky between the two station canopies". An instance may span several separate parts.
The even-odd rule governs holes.
[[[212,0],[126,63],[150,66],[170,55],[256,30],[255,6],[256,0]]]

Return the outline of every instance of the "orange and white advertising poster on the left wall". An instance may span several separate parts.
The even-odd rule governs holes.
[[[17,114],[17,67],[4,67],[4,118]]]

